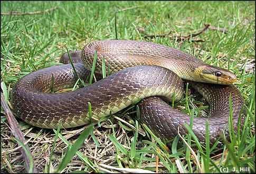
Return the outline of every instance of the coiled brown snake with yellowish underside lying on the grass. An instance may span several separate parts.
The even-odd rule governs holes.
[[[205,142],[206,121],[211,142],[223,133],[229,136],[230,118],[234,130],[243,124],[244,99],[233,85],[236,76],[181,50],[134,40],[98,40],[63,54],[60,62],[27,74],[13,87],[13,112],[27,124],[77,127],[137,105],[141,123],[159,138],[172,139],[186,135],[191,121],[185,112],[169,105],[184,97],[186,83],[210,106],[208,117],[193,119],[192,130],[200,141]],[[107,77],[102,78],[104,63]],[[93,66],[96,82],[53,93],[73,87],[79,78],[88,79]]]

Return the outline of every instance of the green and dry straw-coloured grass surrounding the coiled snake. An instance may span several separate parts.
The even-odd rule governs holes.
[[[231,142],[224,142],[221,147],[201,145],[189,125],[190,134],[185,139],[177,136],[170,141],[161,140],[131,117],[138,112],[137,107],[106,118],[100,126],[94,125],[93,134],[86,140],[79,137],[84,127],[59,132],[18,120],[39,172],[53,172],[58,167],[63,172],[116,171],[111,166],[156,171],[156,164],[158,172],[238,172],[240,167],[255,172],[253,2],[1,2],[1,13],[44,11],[52,7],[58,9],[37,15],[1,15],[1,88],[7,101],[18,79],[34,70],[58,65],[60,55],[67,49],[81,49],[92,40],[118,38],[168,45],[205,63],[230,69],[241,81],[236,87],[246,101],[247,114],[239,136],[233,135]],[[204,24],[226,28],[228,33],[207,29],[193,38],[204,42],[144,38],[144,34],[169,32],[188,35]],[[174,106],[193,119],[207,104],[197,101],[186,90],[186,97]],[[19,145],[6,122],[1,108],[1,172],[24,172],[21,153],[13,150]],[[78,148],[78,142],[84,144]],[[59,166],[64,160],[65,164]]]

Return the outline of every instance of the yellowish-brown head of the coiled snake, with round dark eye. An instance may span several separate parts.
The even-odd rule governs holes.
[[[203,65],[198,67],[196,71],[206,83],[229,85],[237,80],[236,75],[229,70],[216,66]]]

